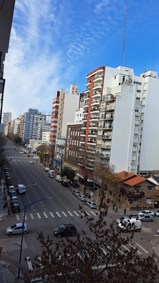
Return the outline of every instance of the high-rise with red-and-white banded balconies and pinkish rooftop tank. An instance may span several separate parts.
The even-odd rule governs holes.
[[[79,99],[78,85],[71,84],[70,93],[65,92],[64,88],[57,91],[56,98],[53,99],[50,143],[58,137],[66,137],[67,122],[74,122]]]

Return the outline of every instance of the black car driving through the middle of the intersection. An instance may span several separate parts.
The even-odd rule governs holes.
[[[76,234],[77,230],[75,228],[75,225],[73,224],[64,224],[60,226],[59,228],[54,229],[54,234],[56,237],[60,238],[62,236],[68,236],[72,235],[74,236]]]

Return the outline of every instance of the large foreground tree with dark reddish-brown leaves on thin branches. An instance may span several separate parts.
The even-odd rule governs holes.
[[[73,238],[53,240],[48,235],[45,240],[43,232],[38,233],[42,253],[30,259],[33,267],[30,273],[50,283],[158,282],[155,254],[147,258],[138,256],[133,233],[124,236],[116,228],[115,220],[108,226],[108,203],[103,204],[96,221],[81,206],[79,209],[88,223],[89,236],[82,230]],[[123,252],[122,246],[127,244],[129,248]]]

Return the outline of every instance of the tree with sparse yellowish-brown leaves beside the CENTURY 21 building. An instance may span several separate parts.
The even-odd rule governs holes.
[[[100,204],[103,203],[104,191],[107,190],[107,186],[115,187],[119,182],[119,179],[115,176],[115,165],[107,164],[105,160],[100,160],[99,163],[95,163],[95,175],[101,182],[101,198]]]

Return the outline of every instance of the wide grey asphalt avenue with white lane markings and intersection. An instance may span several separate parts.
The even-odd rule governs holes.
[[[82,235],[81,229],[86,231],[88,236],[91,236],[86,219],[78,211],[78,205],[81,204],[84,209],[94,216],[96,220],[98,215],[95,215],[95,210],[89,209],[85,203],[80,202],[67,187],[63,187],[55,179],[49,178],[48,173],[39,167],[37,158],[29,158],[26,154],[20,154],[14,150],[15,146],[11,142],[7,142],[9,150],[5,154],[9,154],[12,158],[10,166],[10,177],[13,184],[24,184],[26,186],[26,194],[18,195],[18,201],[21,209],[25,205],[33,201],[51,197],[51,200],[45,199],[32,204],[26,211],[26,223],[29,232],[23,236],[23,251],[21,266],[28,272],[28,264],[24,261],[25,257],[34,258],[37,254],[40,256],[41,246],[37,242],[37,231],[42,231],[44,235],[50,233],[51,237],[56,240],[53,230],[63,224],[72,223],[76,226],[77,231]],[[30,160],[34,164],[30,164]],[[10,161],[8,162],[8,164]],[[37,184],[35,187],[34,184]],[[109,224],[117,217],[111,214],[107,215],[107,223]],[[21,235],[7,236],[5,229],[15,223],[23,222],[23,212],[15,213],[7,221],[1,223],[0,239],[3,244],[3,258],[10,259],[14,262],[19,261],[20,248],[12,243],[21,244]],[[142,230],[134,233],[134,247],[138,246],[141,257],[147,257],[151,254],[149,249],[149,241],[156,237],[156,231],[159,228],[159,217],[155,217],[152,223],[142,223]],[[128,234],[127,234],[128,235]],[[124,248],[124,247],[123,247]]]

